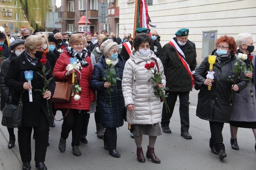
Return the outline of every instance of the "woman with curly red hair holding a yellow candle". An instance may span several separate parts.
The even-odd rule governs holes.
[[[194,73],[194,80],[198,86],[196,90],[200,89],[196,116],[209,121],[211,131],[209,146],[220,159],[227,157],[222,129],[224,123],[229,123],[231,117],[232,91],[239,93],[247,85],[246,81],[240,80],[233,86],[233,82],[227,80],[228,76],[235,76],[236,49],[237,45],[233,37],[221,36],[216,40],[216,49],[212,52],[212,55],[217,56],[212,69],[215,72],[214,80],[206,78],[205,72],[209,70],[208,57],[204,58]],[[207,90],[208,86],[211,86],[211,90]]]

